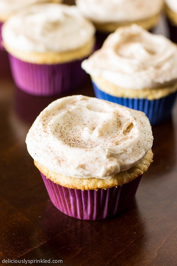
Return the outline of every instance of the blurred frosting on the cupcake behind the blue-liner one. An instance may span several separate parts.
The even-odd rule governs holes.
[[[76,0],[81,12],[97,23],[149,18],[160,12],[163,0]]]

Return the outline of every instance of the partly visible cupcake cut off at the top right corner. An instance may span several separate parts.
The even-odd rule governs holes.
[[[177,43],[177,1],[165,0],[165,13],[168,18],[170,38]]]

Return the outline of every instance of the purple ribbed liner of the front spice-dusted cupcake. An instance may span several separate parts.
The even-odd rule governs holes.
[[[133,201],[142,177],[106,190],[82,191],[60,186],[42,173],[41,176],[53,205],[62,213],[81,220],[111,218],[125,211]]]

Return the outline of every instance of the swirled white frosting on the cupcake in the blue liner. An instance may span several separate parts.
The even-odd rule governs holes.
[[[137,25],[122,27],[82,62],[82,68],[122,88],[160,87],[177,79],[177,46]]]

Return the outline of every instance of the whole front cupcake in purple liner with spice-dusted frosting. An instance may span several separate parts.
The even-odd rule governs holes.
[[[83,220],[126,210],[152,162],[152,143],[143,112],[83,95],[50,103],[26,137],[55,207]]]

